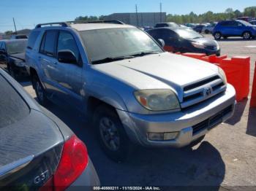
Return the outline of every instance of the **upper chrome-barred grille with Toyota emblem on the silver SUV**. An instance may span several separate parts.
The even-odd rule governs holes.
[[[187,108],[225,91],[226,85],[219,76],[192,83],[183,88],[181,108]]]

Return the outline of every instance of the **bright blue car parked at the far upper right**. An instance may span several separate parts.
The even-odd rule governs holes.
[[[214,39],[227,39],[229,36],[241,36],[244,39],[255,38],[256,26],[244,20],[225,20],[215,26],[213,31]]]

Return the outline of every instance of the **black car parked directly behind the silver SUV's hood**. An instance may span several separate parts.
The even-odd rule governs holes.
[[[220,55],[218,42],[187,28],[154,28],[146,31],[156,41],[163,39],[164,49],[169,52],[197,52]]]

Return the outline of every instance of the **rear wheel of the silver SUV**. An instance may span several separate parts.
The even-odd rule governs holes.
[[[40,82],[39,77],[37,77],[37,75],[34,75],[32,77],[32,84],[33,84],[34,90],[37,94],[38,103],[42,106],[47,106],[49,101],[46,96],[45,89],[42,86],[42,83]]]

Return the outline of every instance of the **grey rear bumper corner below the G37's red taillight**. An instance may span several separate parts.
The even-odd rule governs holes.
[[[89,158],[89,163],[78,179],[73,182],[67,190],[94,190],[93,187],[100,185],[99,177],[95,171],[94,165]]]

